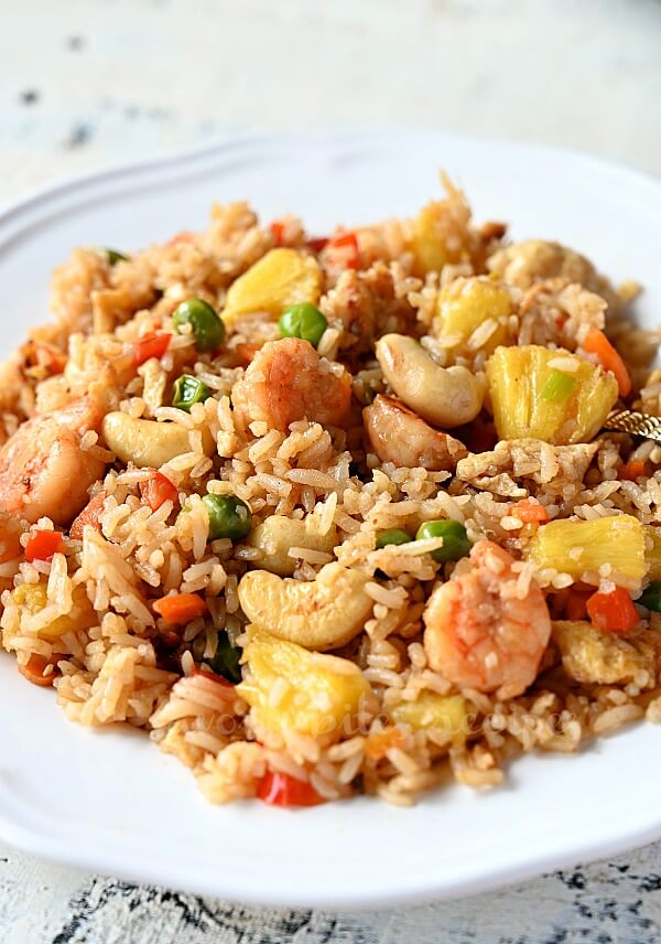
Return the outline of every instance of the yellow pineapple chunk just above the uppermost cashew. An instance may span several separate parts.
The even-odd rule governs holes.
[[[438,337],[456,337],[458,345],[468,341],[480,324],[491,319],[495,323],[494,332],[485,344],[479,345],[490,354],[505,343],[511,309],[509,292],[491,279],[455,279],[438,296],[434,333]]]

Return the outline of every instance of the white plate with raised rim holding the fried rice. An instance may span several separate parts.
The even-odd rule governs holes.
[[[313,233],[411,214],[445,168],[477,219],[557,238],[661,311],[661,185],[556,150],[431,131],[242,137],[43,191],[0,215],[2,355],[46,319],[52,268],[73,246],[132,248],[203,227],[213,201],[249,199]],[[0,836],[62,862],[270,904],[392,905],[476,892],[661,836],[659,728],[579,757],[528,757],[505,787],[452,786],[412,809],[359,798],[308,811],[214,807],[137,732],[69,723],[52,691],[0,656]]]

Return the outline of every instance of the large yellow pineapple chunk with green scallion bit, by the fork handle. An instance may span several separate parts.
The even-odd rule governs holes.
[[[561,358],[575,369],[559,371],[554,362]],[[589,442],[618,395],[613,374],[568,351],[534,344],[496,348],[487,380],[500,439],[532,437],[553,446]]]

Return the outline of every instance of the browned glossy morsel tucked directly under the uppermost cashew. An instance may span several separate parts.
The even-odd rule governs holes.
[[[381,462],[435,472],[453,470],[468,455],[463,442],[441,432],[421,419],[399,400],[378,394],[362,410],[369,444]]]

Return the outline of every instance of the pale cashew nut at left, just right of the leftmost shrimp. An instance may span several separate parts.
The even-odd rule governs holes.
[[[176,422],[156,422],[153,419],[137,419],[128,414],[106,414],[101,426],[108,448],[122,462],[160,469],[175,455],[191,452],[188,430]],[[208,430],[202,430],[202,448],[212,455],[216,444]]]

